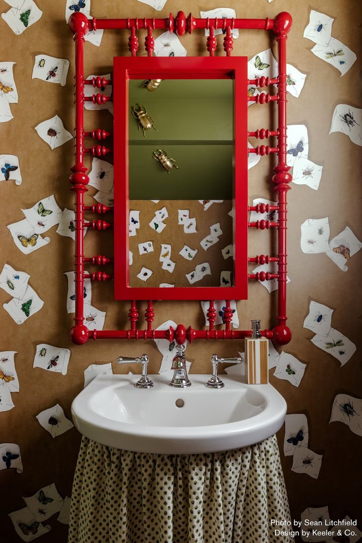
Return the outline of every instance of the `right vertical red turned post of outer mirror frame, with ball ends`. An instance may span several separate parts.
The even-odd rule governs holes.
[[[292,179],[287,165],[287,34],[291,16],[282,12],[275,18],[274,33],[278,45],[278,164],[272,178],[278,193],[278,325],[274,339],[284,345],[291,338],[287,321],[287,192]]]

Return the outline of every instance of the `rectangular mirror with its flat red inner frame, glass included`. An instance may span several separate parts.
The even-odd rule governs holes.
[[[247,58],[117,57],[113,104],[115,298],[246,299]]]

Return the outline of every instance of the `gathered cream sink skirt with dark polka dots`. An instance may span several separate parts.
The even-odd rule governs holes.
[[[68,543],[293,543],[275,435],[243,449],[148,454],[83,437]]]

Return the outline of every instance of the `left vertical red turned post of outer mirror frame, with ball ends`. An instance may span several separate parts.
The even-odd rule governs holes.
[[[82,13],[75,13],[69,17],[69,27],[73,32],[75,43],[75,135],[74,135],[74,166],[73,172],[69,178],[72,190],[74,192],[74,226],[75,226],[75,244],[74,244],[74,292],[75,292],[75,314],[74,326],[71,331],[71,338],[74,343],[79,345],[86,343],[87,327],[84,326],[84,193],[87,192],[86,185],[89,178],[86,175],[87,168],[83,162],[83,132],[84,132],[84,34],[88,29],[87,17]]]

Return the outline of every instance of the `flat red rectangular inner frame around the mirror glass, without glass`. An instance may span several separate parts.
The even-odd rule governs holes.
[[[114,105],[114,282],[118,300],[215,300],[247,298],[247,58],[116,57]],[[129,99],[130,79],[232,79],[234,82],[233,246],[231,287],[129,286]],[[190,127],[192,129],[192,127]]]

